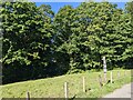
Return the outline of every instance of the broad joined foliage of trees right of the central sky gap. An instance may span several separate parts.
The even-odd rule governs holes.
[[[83,2],[75,9],[61,8],[54,17],[55,44],[59,52],[69,57],[69,72],[101,69],[103,56],[109,69],[112,64],[122,67],[126,49],[132,44],[130,19],[129,13],[109,2]]]

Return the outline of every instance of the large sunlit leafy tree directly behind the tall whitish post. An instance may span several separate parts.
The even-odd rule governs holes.
[[[122,67],[122,54],[125,51],[126,43],[129,44],[127,39],[131,41],[127,33],[129,27],[126,26],[129,21],[124,20],[124,11],[117,9],[116,4],[109,2],[82,3],[78,9],[81,16],[79,18],[83,19],[80,33],[82,36],[85,33],[85,40],[81,41],[81,44],[82,47],[84,44],[85,49],[90,50],[88,52],[83,50],[83,56],[88,59],[86,64],[91,63],[91,68],[99,69],[102,67],[102,57],[105,56],[109,69],[112,69],[112,66]],[[79,21],[79,23],[81,22]],[[81,38],[84,39],[83,37]]]

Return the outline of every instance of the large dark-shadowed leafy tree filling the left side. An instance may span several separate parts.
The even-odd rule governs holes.
[[[3,2],[1,13],[3,83],[45,77],[52,38],[50,7]]]

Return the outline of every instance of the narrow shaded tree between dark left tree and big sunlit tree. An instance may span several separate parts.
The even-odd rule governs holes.
[[[72,36],[72,21],[74,16],[74,9],[71,6],[64,6],[59,10],[54,17],[54,46],[57,53],[57,64],[62,68],[64,72],[70,69],[71,54],[75,50],[74,46],[71,44]],[[73,49],[72,49],[73,48]]]

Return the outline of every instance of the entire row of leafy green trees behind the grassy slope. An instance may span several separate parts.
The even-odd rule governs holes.
[[[3,2],[3,83],[64,73],[132,68],[133,2],[117,9],[110,2],[64,6],[57,14],[50,6]]]

